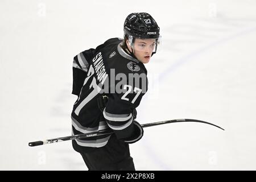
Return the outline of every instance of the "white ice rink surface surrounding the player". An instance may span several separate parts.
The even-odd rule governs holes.
[[[137,170],[256,169],[256,1],[0,2],[0,169],[87,170],[71,142],[73,56],[114,37],[134,12],[151,14],[162,49],[148,69],[130,145]]]

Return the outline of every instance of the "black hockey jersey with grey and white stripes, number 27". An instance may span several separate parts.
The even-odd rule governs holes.
[[[144,65],[121,48],[122,39],[107,40],[96,49],[79,53],[73,60],[73,91],[78,96],[71,114],[72,134],[111,128],[118,139],[136,142],[143,135],[134,110],[147,92]],[[108,98],[105,107],[98,98]],[[139,136],[133,137],[135,128]],[[90,151],[108,143],[110,135],[76,139],[77,151]]]

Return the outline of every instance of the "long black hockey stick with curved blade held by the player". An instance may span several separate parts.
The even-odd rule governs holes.
[[[167,123],[177,123],[177,122],[205,123],[205,124],[208,124],[208,125],[216,126],[221,130],[224,130],[220,126],[214,125],[214,124],[206,122],[206,121],[197,120],[197,119],[173,119],[173,120],[160,121],[160,122],[154,122],[154,123],[146,123],[146,124],[142,124],[141,126],[142,127],[150,127],[150,126],[164,125],[164,124],[167,124]],[[96,131],[96,132],[93,132],[93,133],[78,134],[78,135],[72,135],[72,136],[68,136],[68,137],[54,138],[54,139],[48,139],[48,140],[40,140],[40,141],[36,141],[36,142],[30,142],[30,143],[28,143],[28,146],[34,147],[34,146],[40,146],[40,145],[43,145],[43,144],[63,142],[63,141],[66,141],[66,140],[74,140],[74,139],[89,138],[89,137],[98,137],[98,136],[101,136],[101,135],[109,135],[109,134],[113,134],[113,130],[105,129],[105,130],[100,130],[100,131]]]

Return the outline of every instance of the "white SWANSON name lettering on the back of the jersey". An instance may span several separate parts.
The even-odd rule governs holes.
[[[93,61],[93,66],[94,66],[96,75],[97,75],[97,80],[100,81],[101,84],[103,84],[106,78],[108,77],[108,74],[106,73],[101,52],[99,52],[93,58],[92,61]]]

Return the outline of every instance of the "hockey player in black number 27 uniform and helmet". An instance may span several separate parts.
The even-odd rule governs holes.
[[[112,129],[114,134],[72,141],[89,170],[135,170],[129,143],[143,136],[135,110],[147,92],[147,70],[160,42],[151,15],[132,13],[124,24],[124,39],[107,40],[73,60],[72,134]]]

